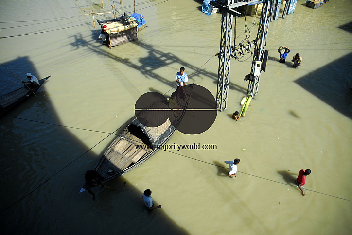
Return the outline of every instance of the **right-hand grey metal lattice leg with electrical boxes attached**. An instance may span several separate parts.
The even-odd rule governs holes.
[[[259,27],[257,38],[255,39],[255,48],[253,54],[252,67],[250,70],[249,84],[247,89],[247,94],[252,97],[258,93],[260,73],[259,75],[254,75],[254,70],[257,61],[263,62],[266,37],[269,31],[269,23],[272,21],[273,15],[273,3],[274,0],[263,0],[263,9],[260,15]]]

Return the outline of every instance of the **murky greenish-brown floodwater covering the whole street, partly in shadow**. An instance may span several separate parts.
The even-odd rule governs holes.
[[[133,13],[133,2],[114,2]],[[228,109],[198,135],[168,144],[214,150],[158,151],[133,171],[78,193],[84,173],[134,116],[148,91],[170,96],[179,67],[216,96],[221,14],[201,1],[136,1],[147,26],[138,41],[109,49],[88,15],[112,0],[0,1],[0,63],[21,79],[48,83],[0,119],[1,231],[4,234],[350,234],[352,230],[352,2],[317,9],[299,0],[294,14],[270,23],[269,59],[245,117],[232,113],[246,95],[252,59],[231,60]],[[112,13],[106,14],[112,16]],[[96,16],[105,19],[104,16]],[[246,17],[251,37],[254,16]],[[256,18],[258,21],[258,17]],[[236,40],[245,38],[244,17]],[[242,35],[240,35],[242,34]],[[303,57],[278,62],[278,46]],[[247,60],[246,60],[247,59]],[[0,67],[0,95],[22,84]],[[236,179],[226,160],[240,158]],[[294,185],[311,169],[302,197]],[[150,188],[161,209],[148,213]]]

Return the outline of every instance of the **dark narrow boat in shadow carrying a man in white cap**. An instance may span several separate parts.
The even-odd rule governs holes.
[[[48,79],[50,76],[40,79],[39,86],[35,90],[31,91],[26,85],[22,88],[14,90],[6,95],[0,96],[0,117],[2,117],[6,112],[16,107],[22,101],[28,99],[32,96]]]

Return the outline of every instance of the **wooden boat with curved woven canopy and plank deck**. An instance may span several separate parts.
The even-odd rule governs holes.
[[[175,127],[179,125],[187,111],[192,88],[192,85],[186,86],[186,101],[179,102],[175,99],[176,108],[174,106],[174,109],[170,109],[169,104],[165,103],[158,103],[156,105],[158,108],[164,107],[165,110],[169,110],[168,112],[170,112],[168,113],[169,119],[162,125],[158,127],[147,127],[143,125],[137,117],[134,117],[133,120],[127,124],[123,132],[119,134],[106,149],[94,168],[94,170],[104,178],[102,183],[140,166],[171,138],[176,131]],[[153,109],[153,104],[149,106],[148,109]],[[153,111],[142,110],[139,117],[143,115],[143,112],[148,116],[150,112]],[[170,117],[170,114],[172,114],[172,117]],[[158,118],[158,116],[155,117]],[[84,186],[80,192],[85,191],[85,189],[86,187]]]

